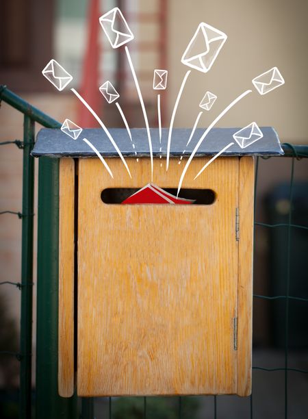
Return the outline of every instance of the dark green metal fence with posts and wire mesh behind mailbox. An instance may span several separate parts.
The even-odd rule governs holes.
[[[38,419],[94,418],[94,399],[84,398],[79,401],[77,396],[60,398],[57,394],[57,305],[58,305],[58,207],[59,207],[59,160],[41,157],[39,162],[38,180],[38,282],[37,282],[37,336],[36,336],[36,409],[35,415],[31,412],[31,342],[32,342],[32,288],[33,288],[33,246],[34,246],[34,160],[30,156],[35,140],[34,124],[40,123],[44,127],[60,128],[60,123],[40,112],[23,101],[5,86],[0,86],[0,101],[5,101],[16,110],[24,114],[23,141],[8,140],[1,145],[15,144],[23,150],[23,205],[21,212],[12,212],[10,209],[1,214],[13,214],[21,219],[22,223],[22,273],[21,282],[11,279],[0,285],[14,285],[21,291],[21,343],[18,353],[2,351],[1,356],[16,356],[21,363],[20,370],[20,403],[21,419],[36,417]],[[307,374],[308,370],[291,368],[289,365],[289,310],[290,301],[307,303],[303,296],[290,294],[292,280],[291,249],[292,230],[308,230],[307,225],[298,225],[292,220],[292,202],[294,191],[294,166],[297,160],[308,157],[308,146],[283,144],[284,157],[292,159],[289,187],[290,211],[286,223],[265,224],[255,222],[255,229],[287,229],[287,260],[285,275],[285,294],[282,295],[254,295],[255,299],[267,301],[281,300],[285,303],[284,320],[284,363],[279,368],[264,368],[253,366],[254,371],[271,373],[283,371],[284,373],[284,417],[291,419],[289,414],[289,374],[296,372]],[[259,170],[259,157],[256,161],[255,190]],[[212,418],[219,418],[220,396],[205,396],[212,403]],[[232,396],[231,396],[232,397]],[[174,418],[191,418],[185,413],[185,403],[188,398],[173,398]],[[116,403],[118,399],[116,399]],[[151,398],[151,403],[153,398]],[[108,407],[106,417],[114,417],[114,398],[107,399]],[[140,398],[136,418],[149,419],[149,398]],[[171,406],[171,405],[170,405]],[[249,411],[247,418],[254,419],[254,398],[249,398]],[[79,411],[80,410],[80,411]],[[141,415],[141,416],[140,416]],[[185,416],[186,415],[186,416]],[[123,418],[125,419],[125,418]]]

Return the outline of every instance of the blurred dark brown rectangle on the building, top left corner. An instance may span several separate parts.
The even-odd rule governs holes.
[[[0,79],[11,90],[51,90],[38,74],[52,54],[53,6],[53,0],[1,1]]]

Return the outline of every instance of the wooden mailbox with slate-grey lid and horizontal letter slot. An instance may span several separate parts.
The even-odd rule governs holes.
[[[151,130],[153,183],[177,188],[190,131],[174,130],[168,172],[160,158],[166,131],[159,144]],[[79,396],[250,394],[253,155],[283,152],[274,130],[262,128],[262,142],[235,144],[194,180],[235,131],[211,131],[190,164],[183,190],[213,191],[214,200],[202,205],[103,202],[105,190],[151,180],[144,129],[132,130],[137,156],[126,131],[111,130],[131,178],[103,131],[84,130],[114,179],[82,140],[53,129],[38,134],[33,154],[61,157],[61,396],[71,396],[75,385]]]

